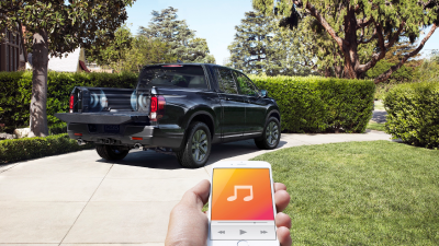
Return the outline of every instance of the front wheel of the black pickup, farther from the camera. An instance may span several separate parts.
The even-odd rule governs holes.
[[[255,139],[255,144],[261,150],[272,150],[278,147],[280,140],[281,124],[275,117],[270,117],[266,122],[262,136]]]

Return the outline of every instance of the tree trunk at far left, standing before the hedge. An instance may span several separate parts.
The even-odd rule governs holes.
[[[47,128],[47,32],[41,30],[33,36],[32,54],[32,99],[31,99],[31,134],[30,137],[48,136]]]

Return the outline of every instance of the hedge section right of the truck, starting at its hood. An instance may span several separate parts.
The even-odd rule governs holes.
[[[268,91],[289,132],[364,132],[372,118],[375,84],[319,77],[250,77]]]

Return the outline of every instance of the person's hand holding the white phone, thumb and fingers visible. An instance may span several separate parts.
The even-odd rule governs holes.
[[[165,241],[166,246],[202,246],[206,244],[209,219],[201,210],[209,201],[210,191],[211,183],[204,179],[183,195],[181,201],[171,211]],[[285,185],[274,183],[274,201],[278,211],[275,215],[278,239],[281,246],[291,246],[291,219],[282,213],[290,202]]]

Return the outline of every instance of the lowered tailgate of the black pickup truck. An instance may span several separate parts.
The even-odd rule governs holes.
[[[146,114],[139,113],[58,113],[55,117],[66,122],[121,125],[149,122]]]

